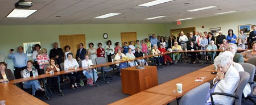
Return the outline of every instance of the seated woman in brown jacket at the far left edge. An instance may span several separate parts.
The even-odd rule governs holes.
[[[6,69],[6,63],[0,62],[0,82],[9,82],[14,79],[14,75],[10,69]]]

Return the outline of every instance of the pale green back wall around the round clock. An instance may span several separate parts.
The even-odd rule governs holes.
[[[8,68],[13,69],[13,60],[9,59],[9,49],[16,49],[26,42],[40,41],[42,48],[52,49],[53,43],[59,43],[59,35],[85,34],[86,46],[93,42],[105,44],[106,41],[121,42],[121,32],[137,32],[137,39],[142,40],[148,34],[163,35],[163,24],[75,24],[75,25],[30,25],[30,26],[0,26],[0,52],[5,53]],[[108,33],[108,39],[103,39],[103,33]],[[164,35],[165,36],[165,35]],[[32,59],[32,57],[29,57]]]

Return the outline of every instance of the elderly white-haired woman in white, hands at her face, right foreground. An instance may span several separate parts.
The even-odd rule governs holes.
[[[217,56],[214,59],[214,64],[217,65],[218,73],[213,79],[213,87],[209,90],[206,98],[206,104],[211,104],[210,93],[228,93],[234,94],[236,92],[240,75],[236,68],[229,62],[226,56]],[[215,104],[233,104],[234,98],[224,95],[213,95]]]

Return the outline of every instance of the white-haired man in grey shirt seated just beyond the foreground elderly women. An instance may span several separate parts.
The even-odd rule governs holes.
[[[229,43],[227,46],[227,49],[228,49],[228,51],[232,52],[234,62],[244,62],[243,55],[240,53],[237,53],[237,45],[236,44]]]

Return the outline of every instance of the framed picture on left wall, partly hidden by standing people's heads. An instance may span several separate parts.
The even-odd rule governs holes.
[[[23,51],[27,56],[32,56],[33,51],[35,51],[35,44],[40,44],[40,42],[23,43]]]

